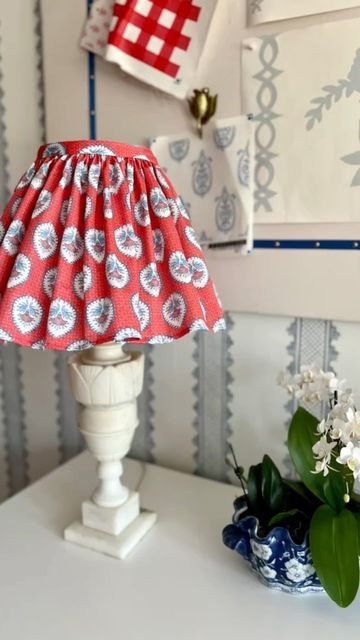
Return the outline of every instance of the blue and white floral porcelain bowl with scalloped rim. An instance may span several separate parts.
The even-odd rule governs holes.
[[[233,524],[223,530],[224,544],[247,560],[268,587],[288,593],[323,592],[311,560],[308,538],[296,544],[284,527],[274,527],[258,536],[259,521],[246,515],[246,503],[235,502]]]

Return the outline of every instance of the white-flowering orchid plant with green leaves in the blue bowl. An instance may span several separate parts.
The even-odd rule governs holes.
[[[260,534],[283,526],[296,543],[308,535],[325,591],[347,607],[360,579],[360,412],[345,381],[317,366],[283,373],[278,382],[300,404],[287,442],[299,481],[282,478],[268,456],[248,478],[234,458],[235,472]],[[321,421],[308,410],[319,403],[328,407]]]

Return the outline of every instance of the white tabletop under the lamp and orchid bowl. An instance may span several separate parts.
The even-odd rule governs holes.
[[[135,488],[142,466],[126,462]],[[82,454],[0,507],[1,640],[332,640],[357,636],[357,601],[274,592],[222,545],[236,488],[147,466],[142,503],[159,514],[125,561],[62,531],[95,484]]]

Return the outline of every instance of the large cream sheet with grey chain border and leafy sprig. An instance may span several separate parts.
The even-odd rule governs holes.
[[[243,43],[255,222],[360,222],[360,20]]]

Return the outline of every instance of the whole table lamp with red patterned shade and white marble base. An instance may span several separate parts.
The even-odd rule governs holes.
[[[151,151],[93,140],[40,147],[0,218],[0,340],[73,352],[70,384],[98,486],[67,540],[123,558],[156,519],[121,483],[144,368],[123,345],[223,328],[189,215]]]

